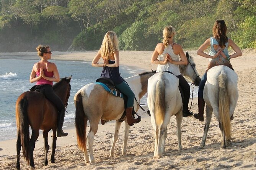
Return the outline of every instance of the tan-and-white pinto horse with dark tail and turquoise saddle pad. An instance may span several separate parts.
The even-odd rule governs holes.
[[[140,98],[147,93],[148,78],[154,74],[155,72],[145,72],[125,79],[134,92],[138,102],[140,101]],[[74,96],[74,103],[76,107],[75,127],[77,131],[77,143],[79,148],[84,152],[85,162],[90,161],[90,163],[95,163],[93,157],[93,140],[98,130],[100,119],[116,120],[113,143],[110,150],[110,157],[114,157],[114,147],[121,127],[121,122],[118,120],[124,113],[124,100],[120,97],[113,96],[111,93],[104,90],[101,85],[90,83],[78,90]],[[134,109],[136,112],[138,111],[139,105],[137,103],[134,103]],[[90,131],[87,136],[90,157],[88,157],[86,150],[87,120],[90,122]],[[125,122],[124,144],[122,149],[123,155],[126,155],[126,146],[130,129],[126,119]]]

